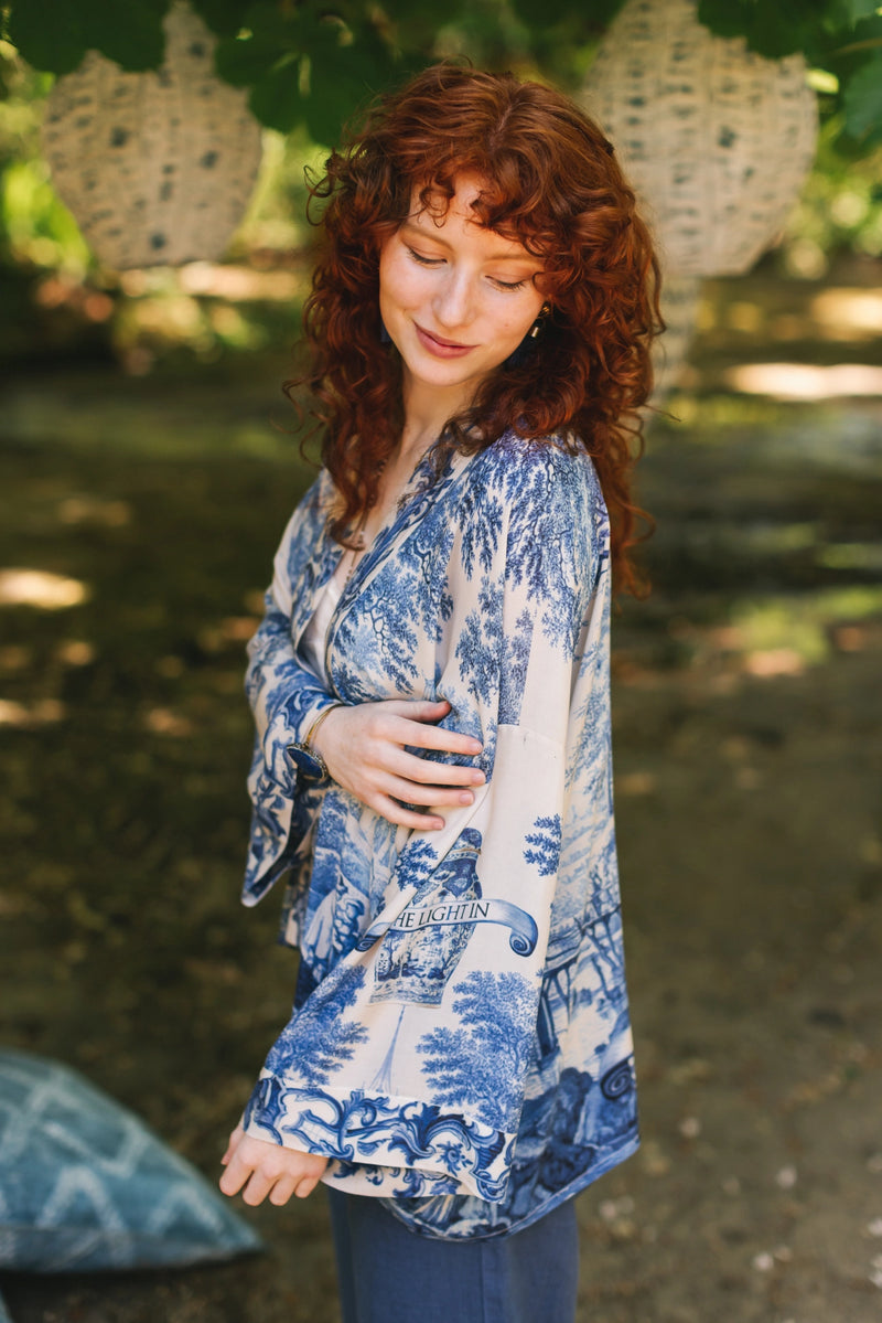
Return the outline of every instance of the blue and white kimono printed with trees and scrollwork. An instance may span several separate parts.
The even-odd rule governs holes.
[[[341,554],[323,472],[250,644],[243,900],[291,871],[295,1009],[246,1132],[447,1240],[520,1230],[637,1146],[610,755],[610,525],[591,459],[514,434],[418,466],[335,610],[327,681],[298,654]],[[333,703],[446,699],[487,783],[397,827],[290,746]],[[428,754],[448,759],[450,754]]]

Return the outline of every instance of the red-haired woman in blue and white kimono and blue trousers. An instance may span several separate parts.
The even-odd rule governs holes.
[[[565,1323],[637,1144],[611,796],[657,269],[569,101],[442,65],[328,163],[324,467],[250,646],[295,1011],[221,1188],[331,1189],[344,1318]]]

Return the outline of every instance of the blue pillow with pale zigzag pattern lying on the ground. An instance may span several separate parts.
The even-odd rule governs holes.
[[[67,1066],[0,1052],[0,1269],[180,1266],[261,1248],[131,1111]]]

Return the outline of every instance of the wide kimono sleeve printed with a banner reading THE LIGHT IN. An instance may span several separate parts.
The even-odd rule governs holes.
[[[599,568],[587,456],[517,450],[456,511],[436,692],[488,781],[413,832],[385,904],[295,1011],[246,1110],[259,1139],[387,1197],[505,1197],[555,894],[567,722]]]

